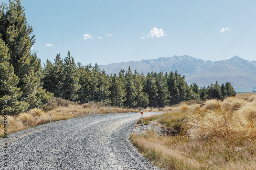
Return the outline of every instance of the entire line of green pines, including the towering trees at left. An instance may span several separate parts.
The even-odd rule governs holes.
[[[180,101],[235,96],[231,84],[216,81],[200,89],[190,86],[177,72],[144,75],[121,69],[107,75],[98,65],[76,64],[70,52],[54,62],[47,60],[42,69],[35,51],[35,35],[27,24],[20,1],[0,6],[0,112],[18,114],[42,107],[52,97],[86,103],[104,102],[118,107],[163,107]]]

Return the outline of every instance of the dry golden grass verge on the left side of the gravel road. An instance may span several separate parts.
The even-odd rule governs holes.
[[[52,122],[92,115],[93,104],[95,105],[95,114],[140,112],[138,109],[106,106],[104,103],[89,102],[86,104],[77,104],[61,98],[53,98],[43,107],[44,110],[34,108],[17,116],[8,115],[8,134],[50,123],[49,111],[51,111]],[[0,138],[5,136],[4,121],[4,116],[0,116]]]

